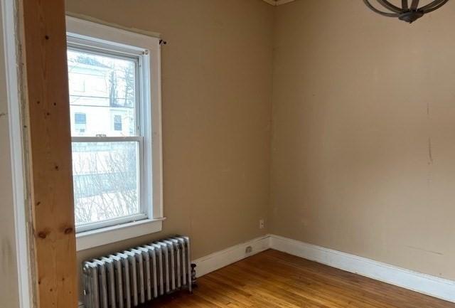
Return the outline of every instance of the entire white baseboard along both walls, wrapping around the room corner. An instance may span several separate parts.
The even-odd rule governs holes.
[[[248,246],[252,248],[251,253],[245,252]],[[193,263],[197,265],[197,276],[201,277],[245,259],[245,257],[261,253],[269,248],[336,267],[340,270],[370,277],[374,280],[387,282],[390,285],[396,285],[449,302],[455,302],[455,281],[406,270],[365,257],[341,253],[337,250],[331,250],[273,234],[264,235],[205,257],[200,257],[194,260]]]

